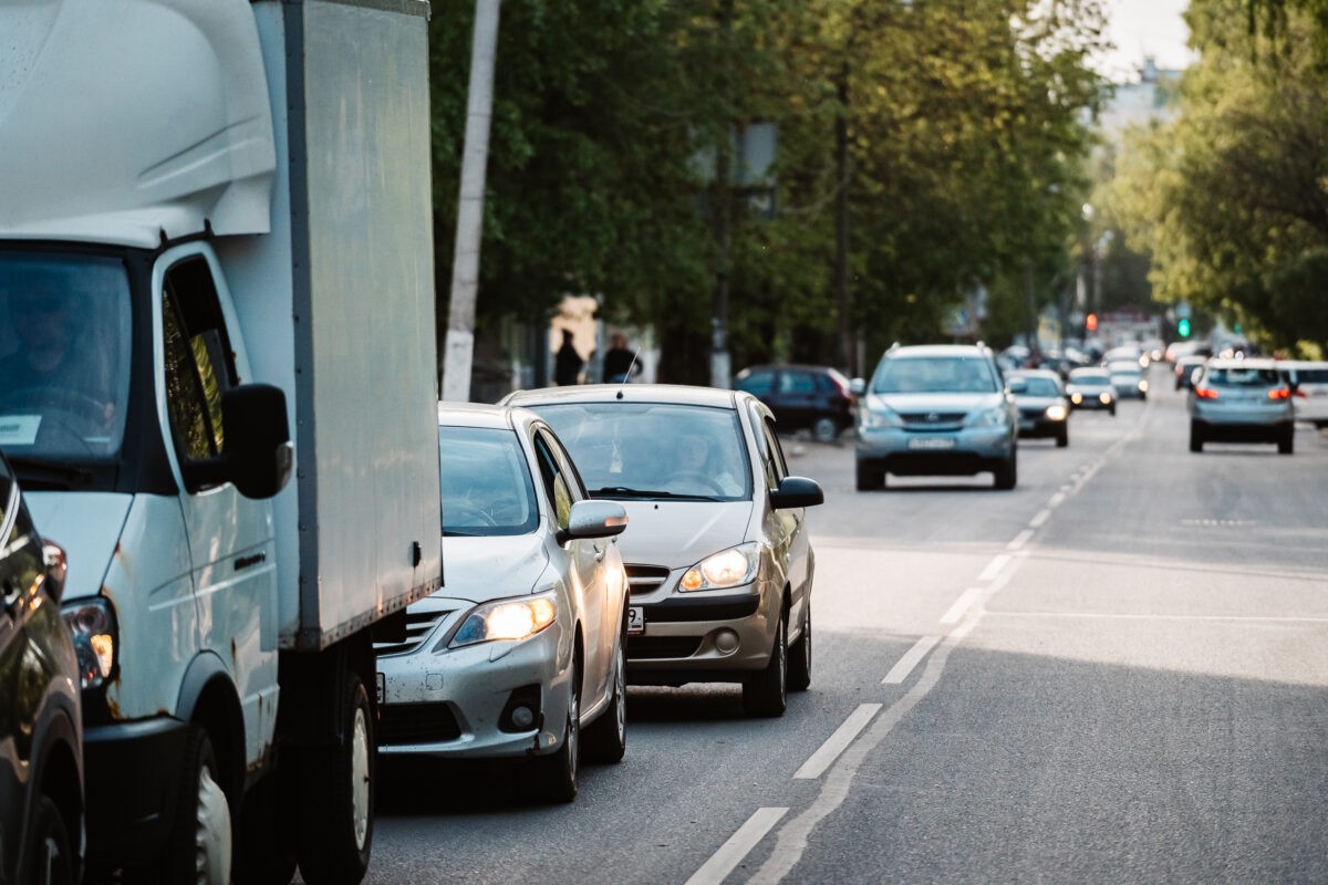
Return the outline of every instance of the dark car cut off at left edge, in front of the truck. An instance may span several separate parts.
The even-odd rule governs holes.
[[[0,881],[77,882],[82,723],[64,552],[37,533],[3,456],[0,539]]]

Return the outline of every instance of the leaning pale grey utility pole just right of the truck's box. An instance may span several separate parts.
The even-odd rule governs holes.
[[[489,123],[494,103],[494,57],[498,48],[501,0],[475,0],[475,31],[470,46],[470,86],[466,100],[466,142],[461,158],[457,202],[457,244],[452,264],[452,300],[444,348],[442,398],[470,399],[470,368],[475,350],[475,299],[479,291],[479,239],[485,222],[485,170],[489,165]]]

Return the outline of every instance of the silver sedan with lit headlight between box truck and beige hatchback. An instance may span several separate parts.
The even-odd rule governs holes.
[[[627,742],[627,512],[530,411],[440,403],[438,451],[448,581],[376,644],[378,752],[531,758],[533,787],[570,801],[582,751]]]

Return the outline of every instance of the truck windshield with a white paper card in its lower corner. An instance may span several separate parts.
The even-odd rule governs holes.
[[[24,458],[116,458],[130,328],[121,260],[0,252],[0,448]]]

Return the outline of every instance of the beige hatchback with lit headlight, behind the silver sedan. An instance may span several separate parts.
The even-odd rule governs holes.
[[[588,494],[627,510],[628,682],[740,682],[749,714],[782,715],[788,690],[811,682],[803,508],[825,495],[789,475],[770,410],[681,385],[522,390],[503,405],[539,413]]]

